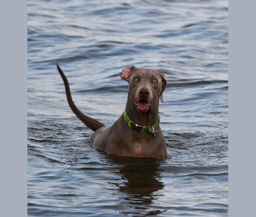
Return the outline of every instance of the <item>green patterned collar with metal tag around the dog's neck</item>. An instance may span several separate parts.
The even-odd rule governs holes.
[[[157,128],[158,126],[158,123],[160,122],[160,116],[158,116],[158,120],[155,124],[153,125],[150,125],[150,126],[140,126],[138,124],[135,124],[129,117],[128,115],[126,114],[126,111],[124,111],[124,121],[125,123],[128,125],[128,127],[131,129],[131,130],[135,130],[137,131],[138,133],[146,133],[146,132],[150,132],[153,134],[153,136],[155,136],[155,129]]]

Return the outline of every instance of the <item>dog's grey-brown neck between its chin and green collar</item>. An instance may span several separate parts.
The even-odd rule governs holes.
[[[130,93],[128,93],[128,98],[126,102],[126,113],[128,117],[136,124],[141,126],[153,125],[158,120],[158,104],[159,98],[157,98],[152,106],[146,112],[141,112],[137,109],[133,102],[133,98]]]

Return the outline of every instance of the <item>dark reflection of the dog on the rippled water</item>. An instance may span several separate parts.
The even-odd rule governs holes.
[[[160,181],[159,169],[162,161],[115,156],[112,156],[111,160],[120,165],[118,173],[121,174],[123,182],[116,185],[125,193],[123,205],[143,209],[143,205],[152,203],[157,196],[160,196],[156,192],[164,187]]]

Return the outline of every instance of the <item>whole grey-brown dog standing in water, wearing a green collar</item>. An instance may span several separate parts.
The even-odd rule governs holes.
[[[111,126],[84,115],[74,104],[69,83],[57,64],[64,81],[68,103],[76,116],[95,131],[90,137],[95,148],[118,156],[167,158],[165,140],[159,126],[159,98],[163,102],[166,80],[154,69],[128,66],[119,74],[129,83],[124,113]]]

